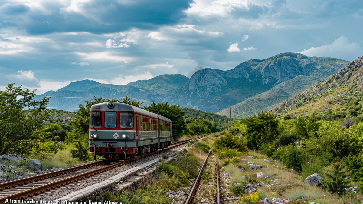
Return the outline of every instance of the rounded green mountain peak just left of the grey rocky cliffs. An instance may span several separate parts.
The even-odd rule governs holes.
[[[187,82],[188,77],[181,74],[160,75],[149,80],[138,80],[127,84],[148,90],[166,92],[181,87]]]

